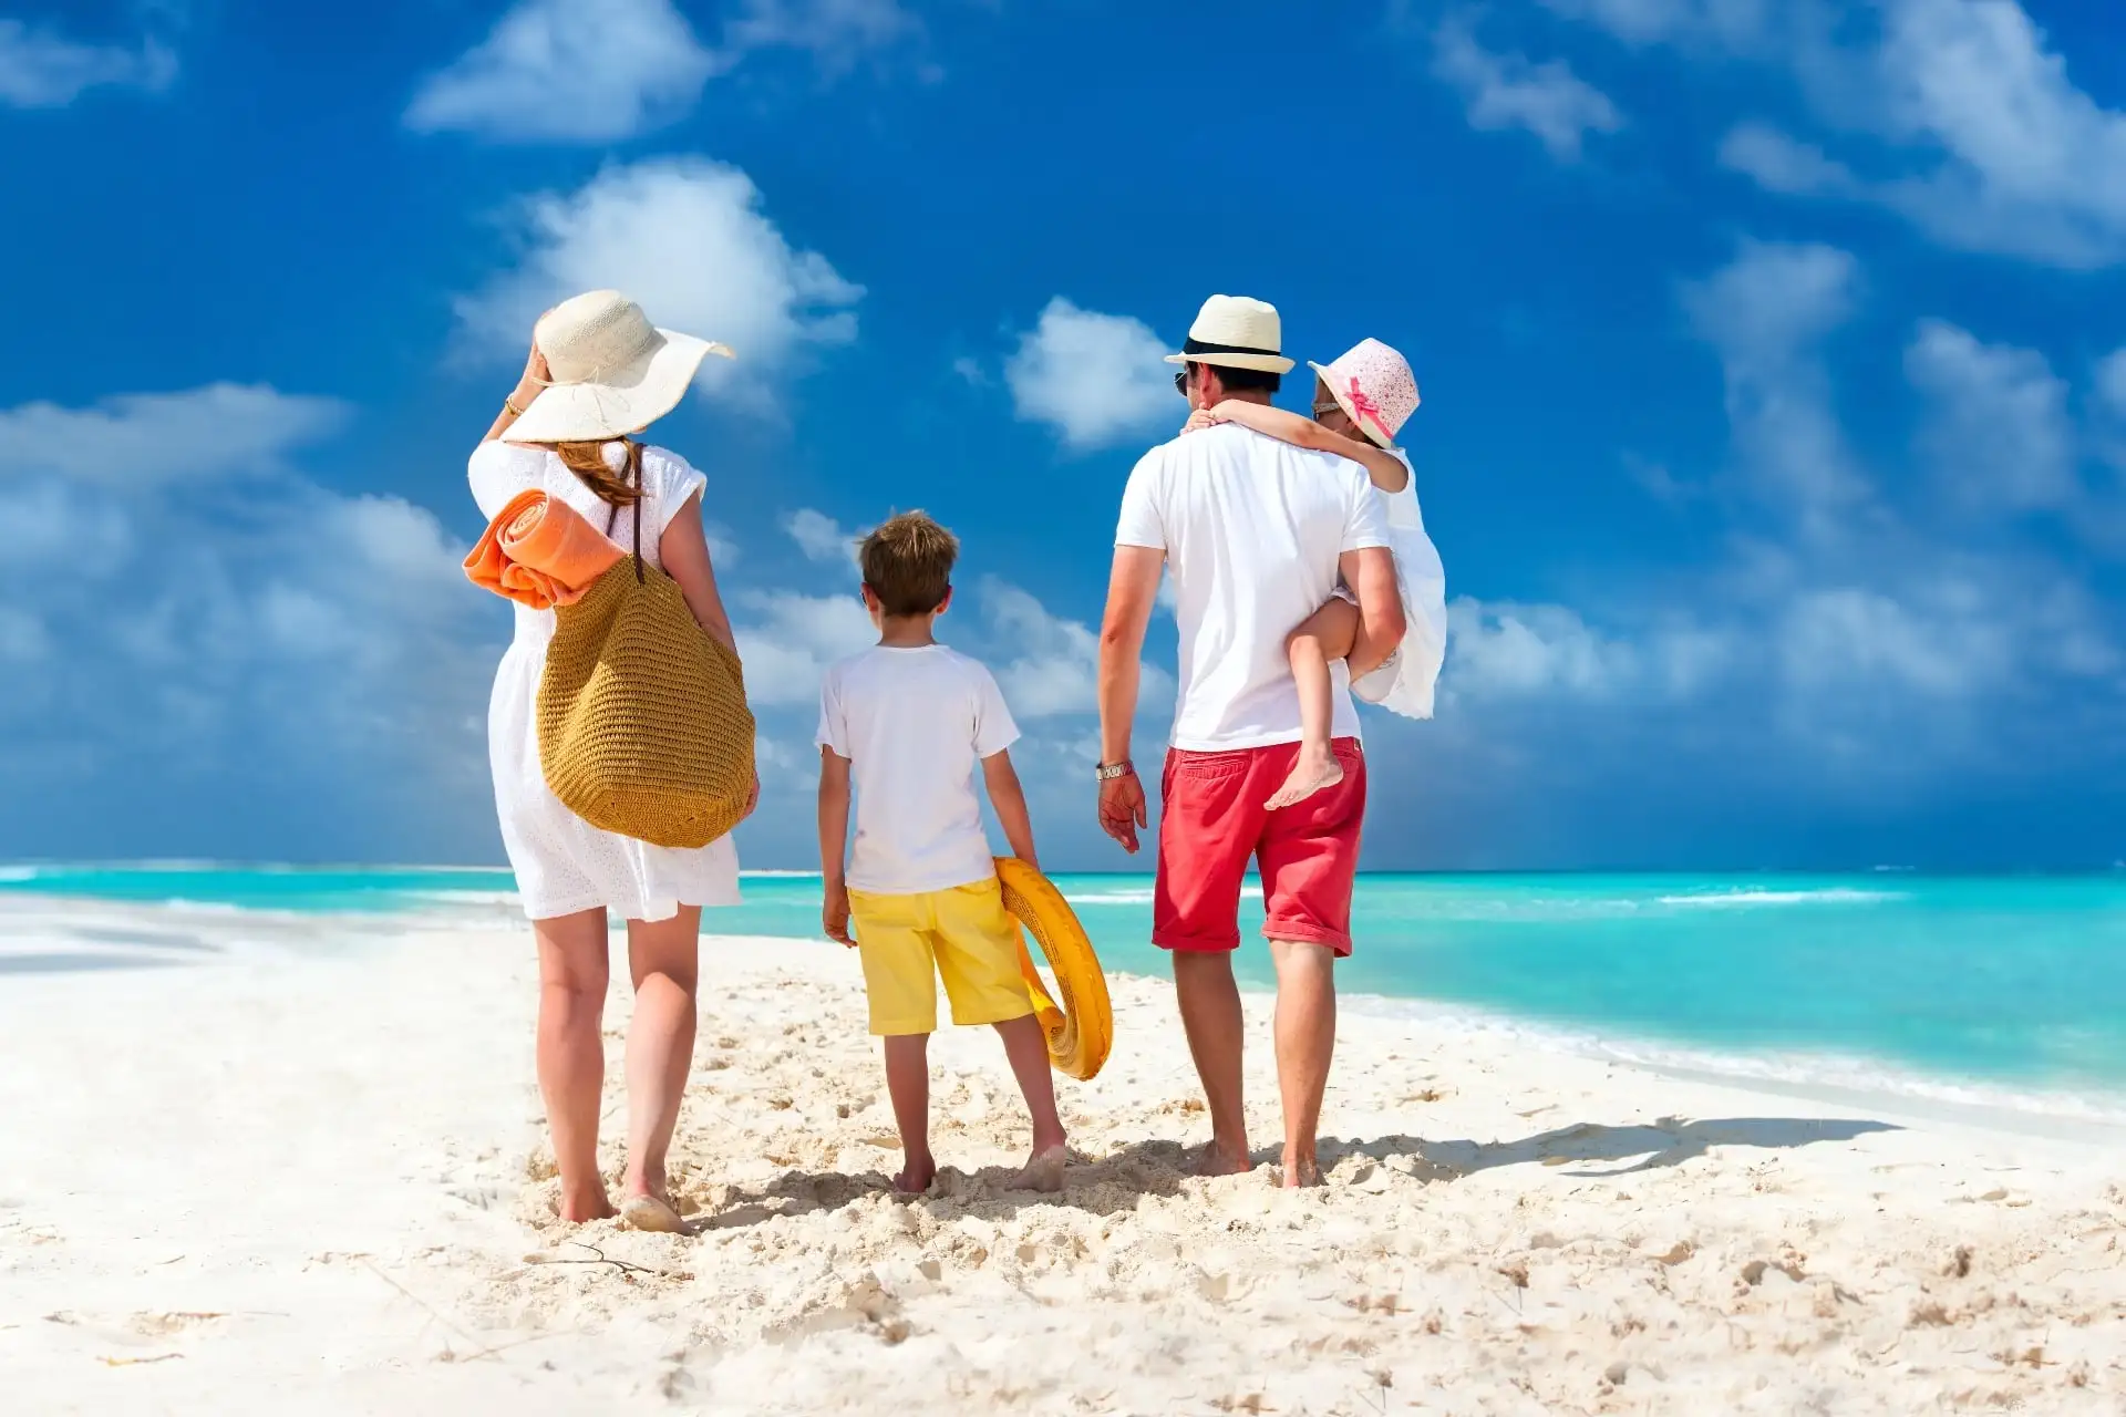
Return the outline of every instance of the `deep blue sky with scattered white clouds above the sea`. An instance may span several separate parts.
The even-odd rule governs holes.
[[[1373,867],[2126,856],[2126,19],[2024,0],[26,0],[0,19],[0,856],[497,860],[463,455],[532,317],[659,427],[810,865],[846,533],[965,540],[1052,863],[1159,355],[1403,348],[1454,597]],[[1303,406],[1295,387],[1286,406]],[[1171,665],[1171,625],[1150,659]],[[1150,756],[1163,703],[1146,712]]]

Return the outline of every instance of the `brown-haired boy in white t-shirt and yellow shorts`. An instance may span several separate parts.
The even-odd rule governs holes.
[[[878,646],[844,659],[821,684],[823,924],[829,939],[863,956],[872,1032],[884,1039],[887,1094],[901,1132],[895,1190],[929,1190],[938,1175],[929,1149],[929,1035],[942,975],[952,1022],[995,1026],[1033,1113],[1033,1156],[1018,1185],[1054,1192],[1063,1190],[1063,1122],[1048,1041],[1018,973],[1018,926],[1003,909],[974,797],[980,763],[1012,854],[1037,865],[1027,797],[1006,752],[1018,727],[989,669],[933,635],[952,603],[957,557],[952,533],[923,512],[904,512],[863,537],[863,608],[878,627]],[[850,778],[857,843],[844,873]]]

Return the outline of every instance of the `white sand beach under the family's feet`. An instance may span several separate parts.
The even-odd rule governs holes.
[[[1065,1194],[1001,1190],[1018,1100],[965,1030],[933,1047],[948,1173],[897,1200],[855,960],[702,958],[674,1151],[702,1228],[657,1236],[553,1219],[523,931],[0,905],[0,1406],[2126,1411],[2103,1126],[1348,1009],[1329,1185],[1197,1181],[1171,990],[1116,979],[1108,1071],[1059,1083]],[[614,1060],[623,1024],[617,990]]]

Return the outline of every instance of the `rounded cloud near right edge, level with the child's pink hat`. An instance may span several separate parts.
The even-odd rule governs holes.
[[[1920,321],[1905,374],[1928,399],[1920,446],[1967,510],[2064,510],[2079,497],[2066,380],[2032,348]]]

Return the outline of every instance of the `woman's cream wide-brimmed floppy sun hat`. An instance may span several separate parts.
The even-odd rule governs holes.
[[[504,433],[508,442],[593,442],[640,433],[672,412],[704,355],[729,348],[657,329],[619,291],[572,295],[540,317],[534,344],[549,385]]]

